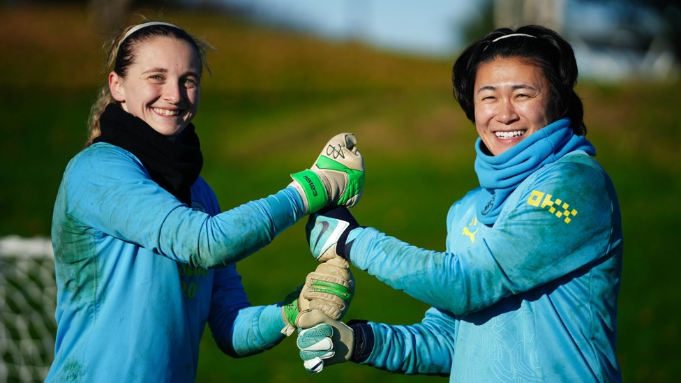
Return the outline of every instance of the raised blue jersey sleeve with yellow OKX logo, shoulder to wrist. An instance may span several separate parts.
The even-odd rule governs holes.
[[[354,240],[350,260],[437,308],[462,315],[481,310],[595,262],[616,245],[615,202],[606,183],[597,166],[559,162],[523,182],[475,246],[440,253],[367,228]]]

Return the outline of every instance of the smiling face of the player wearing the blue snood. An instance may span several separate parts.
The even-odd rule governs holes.
[[[481,63],[473,92],[475,128],[493,156],[555,121],[548,80],[521,59]]]

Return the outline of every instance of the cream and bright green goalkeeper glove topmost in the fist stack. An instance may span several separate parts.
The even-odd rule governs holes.
[[[308,170],[291,174],[307,213],[324,206],[354,206],[364,187],[364,159],[352,133],[335,135]]]

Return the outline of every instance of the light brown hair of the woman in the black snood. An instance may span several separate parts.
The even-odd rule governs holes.
[[[141,43],[156,37],[177,38],[178,40],[188,42],[195,48],[196,54],[201,61],[201,68],[206,68],[208,73],[211,72],[206,61],[206,53],[212,48],[211,45],[195,38],[180,27],[168,24],[153,24],[137,29],[136,31],[133,31],[133,33],[130,33],[129,36],[126,36],[128,31],[136,27],[139,28],[140,25],[149,22],[151,21],[130,25],[126,29],[119,31],[119,33],[107,41],[105,44],[107,50],[107,61],[104,68],[105,73],[109,73],[113,70],[121,77],[125,77],[128,74],[128,68],[130,68],[130,65],[135,61],[135,48]],[[110,103],[116,102],[117,101],[111,96],[108,85],[105,84],[101,87],[98,98],[90,109],[88,137],[87,142],[85,142],[86,147],[91,145],[93,140],[101,134],[99,119],[104,112],[105,107]]]

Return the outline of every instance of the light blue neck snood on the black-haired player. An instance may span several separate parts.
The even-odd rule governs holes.
[[[572,151],[582,150],[590,156],[596,155],[596,149],[584,136],[574,134],[569,119],[549,124],[499,156],[489,156],[483,148],[484,143],[478,137],[475,142],[475,172],[484,190],[477,200],[477,218],[488,226],[495,223],[513,190],[540,167]]]

